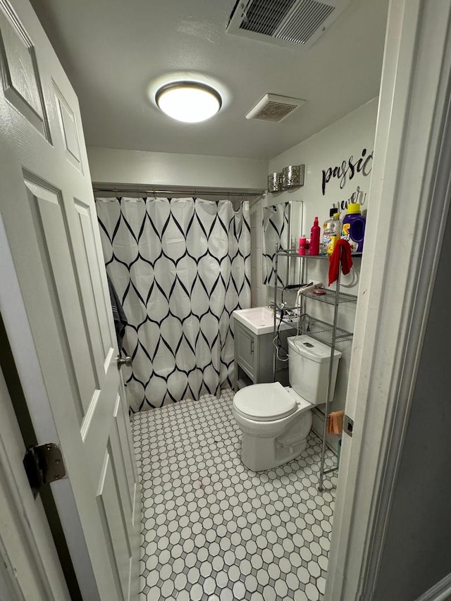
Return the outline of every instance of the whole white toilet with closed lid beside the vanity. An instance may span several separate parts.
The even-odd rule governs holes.
[[[290,386],[253,384],[233,398],[233,415],[242,429],[241,460],[253,471],[276,468],[304,452],[311,408],[326,402],[330,347],[305,334],[287,340]],[[335,350],[332,395],[340,357]]]

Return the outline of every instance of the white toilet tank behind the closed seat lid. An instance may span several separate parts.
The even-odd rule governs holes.
[[[290,386],[311,404],[326,402],[330,366],[330,347],[308,335],[290,336],[288,340],[288,373]],[[335,390],[341,353],[333,353],[331,397]]]

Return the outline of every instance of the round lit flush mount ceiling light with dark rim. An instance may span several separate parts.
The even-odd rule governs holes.
[[[216,89],[198,82],[163,85],[157,90],[155,101],[163,113],[185,123],[206,121],[216,115],[222,105]]]

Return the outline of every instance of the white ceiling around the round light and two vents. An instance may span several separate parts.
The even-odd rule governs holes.
[[[226,34],[235,0],[32,0],[80,100],[89,146],[269,159],[376,97],[388,0],[354,0],[308,51]],[[188,125],[149,85],[189,72],[223,109]],[[307,102],[283,123],[247,120],[270,92]]]

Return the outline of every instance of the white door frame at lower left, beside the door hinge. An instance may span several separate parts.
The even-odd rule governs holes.
[[[23,469],[25,446],[0,369],[0,599],[69,601],[39,497]]]

